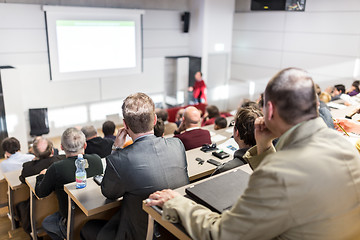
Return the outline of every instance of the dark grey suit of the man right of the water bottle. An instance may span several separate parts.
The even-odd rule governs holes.
[[[106,163],[101,191],[107,198],[123,200],[97,239],[145,239],[148,216],[142,201],[157,190],[189,183],[183,144],[151,134],[116,150]]]

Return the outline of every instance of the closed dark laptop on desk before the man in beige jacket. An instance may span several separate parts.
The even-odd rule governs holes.
[[[244,193],[250,174],[240,169],[230,170],[208,181],[185,189],[187,196],[212,211],[222,213],[230,209]]]

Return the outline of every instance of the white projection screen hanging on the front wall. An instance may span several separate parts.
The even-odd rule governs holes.
[[[51,80],[142,71],[142,10],[43,6]]]

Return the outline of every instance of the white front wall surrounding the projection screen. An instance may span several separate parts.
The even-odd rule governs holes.
[[[182,32],[181,27],[182,12],[145,11],[142,74],[52,82],[49,79],[45,20],[41,6],[0,4],[0,66],[15,67],[18,76],[6,78],[4,81],[8,82],[3,90],[8,94],[11,91],[10,94],[19,96],[19,101],[22,101],[23,109],[18,109],[18,112],[23,114],[18,117],[27,116],[29,108],[49,108],[49,136],[60,135],[68,127],[55,127],[56,123],[52,121],[58,121],[60,116],[68,118],[69,121],[65,122],[73,123],[71,126],[90,122],[94,115],[92,109],[99,109],[93,107],[96,104],[101,105],[99,114],[105,120],[106,115],[120,112],[121,100],[130,93],[142,91],[157,96],[164,92],[164,57],[189,54],[189,36]],[[114,110],[115,107],[117,109]],[[93,123],[98,127],[103,120]],[[24,134],[27,135],[27,119],[25,124],[27,132]],[[9,132],[10,136],[12,134]]]

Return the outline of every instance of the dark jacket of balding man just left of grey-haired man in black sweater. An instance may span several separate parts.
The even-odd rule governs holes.
[[[23,169],[19,177],[22,183],[25,183],[25,178],[39,174],[43,169],[50,167],[56,161],[65,159],[65,155],[56,155],[50,158],[32,160],[23,164]]]

